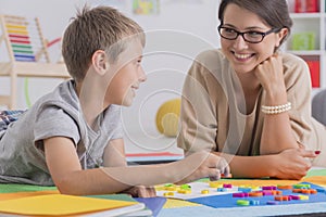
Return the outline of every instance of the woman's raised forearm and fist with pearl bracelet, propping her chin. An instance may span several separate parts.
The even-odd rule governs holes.
[[[265,113],[260,145],[261,155],[277,154],[287,149],[298,148],[290,125],[288,112],[291,105],[288,104],[283,72],[279,55],[272,56],[256,69],[256,76],[265,90],[265,102],[260,107]],[[279,110],[278,106],[284,107]]]

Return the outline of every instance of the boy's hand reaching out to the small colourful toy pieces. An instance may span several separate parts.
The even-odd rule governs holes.
[[[205,151],[196,152],[184,161],[188,162],[188,167],[186,169],[191,169],[189,175],[177,183],[188,183],[197,179],[209,177],[210,180],[221,179],[221,175],[229,175],[229,166],[225,158],[216,156]],[[183,170],[185,168],[181,168]]]

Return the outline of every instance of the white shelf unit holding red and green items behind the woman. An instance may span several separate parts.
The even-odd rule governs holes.
[[[296,1],[288,0],[293,21],[291,35],[286,41],[286,52],[302,58],[310,67],[314,91],[326,88],[326,12],[325,0],[318,0],[319,12],[296,13]],[[301,0],[304,1],[304,0]],[[305,0],[305,3],[313,3]],[[303,2],[304,3],[304,2]],[[304,5],[304,4],[303,4]],[[308,4],[305,4],[308,5]],[[309,9],[306,9],[309,10]],[[303,9],[304,11],[304,9]],[[293,42],[293,39],[296,40]],[[314,47],[312,46],[314,44]],[[293,50],[293,48],[297,48]],[[304,50],[299,50],[304,49]],[[311,50],[314,49],[314,50]]]

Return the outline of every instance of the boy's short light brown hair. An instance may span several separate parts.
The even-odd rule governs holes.
[[[123,39],[130,36],[145,46],[143,29],[135,21],[110,7],[84,7],[65,29],[62,40],[62,55],[71,76],[82,81],[97,50],[105,51],[114,62],[126,49]]]

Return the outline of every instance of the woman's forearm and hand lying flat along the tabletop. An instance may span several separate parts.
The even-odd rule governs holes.
[[[311,167],[310,157],[316,157],[314,151],[288,149],[279,154],[239,156],[215,152],[227,159],[233,177],[279,179],[301,179]]]

